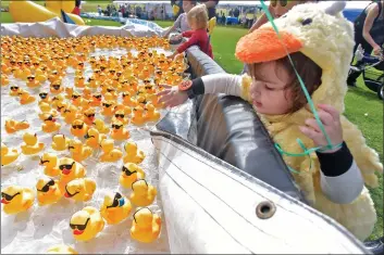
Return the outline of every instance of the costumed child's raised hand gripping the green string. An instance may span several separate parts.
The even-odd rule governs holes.
[[[324,129],[331,139],[333,145],[337,145],[343,142],[343,128],[340,124],[340,115],[331,105],[319,104],[319,117],[323,123]],[[306,127],[300,126],[300,131],[313,140],[317,146],[326,146],[327,142],[324,133],[321,131],[317,120],[314,118],[308,118],[306,120]],[[339,148],[335,148],[327,151],[322,151],[323,153],[333,153],[338,151]]]

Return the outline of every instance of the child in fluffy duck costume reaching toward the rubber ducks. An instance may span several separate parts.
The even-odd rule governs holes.
[[[298,171],[293,176],[307,201],[364,240],[373,230],[376,213],[363,183],[376,187],[375,173],[382,173],[383,165],[377,153],[367,146],[361,131],[339,116],[344,112],[354,48],[352,25],[342,14],[344,5],[345,2],[334,2],[325,9],[317,3],[299,4],[274,21],[280,36],[269,23],[241,38],[236,56],[248,65],[252,78],[208,75],[168,88],[159,95],[166,106],[178,105],[199,93],[224,92],[249,101],[280,144],[287,166]],[[306,106],[288,52],[319,107],[332,144],[339,146],[326,146],[326,137]],[[296,141],[298,138],[308,149],[323,150],[308,156]],[[304,155],[289,156],[284,152]]]

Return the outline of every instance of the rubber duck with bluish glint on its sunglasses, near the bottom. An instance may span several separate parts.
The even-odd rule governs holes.
[[[131,213],[132,205],[127,197],[119,192],[109,192],[104,196],[100,213],[109,225],[116,225],[126,219]]]

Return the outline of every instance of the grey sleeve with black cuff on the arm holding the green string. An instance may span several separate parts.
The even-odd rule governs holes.
[[[334,153],[317,153],[320,186],[325,196],[337,204],[349,204],[361,193],[364,182],[359,167],[345,142]]]

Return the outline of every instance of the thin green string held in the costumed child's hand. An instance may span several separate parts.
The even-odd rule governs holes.
[[[327,145],[325,145],[325,146],[318,146],[318,148],[307,149],[306,145],[304,144],[304,142],[302,142],[300,139],[297,139],[298,144],[299,144],[300,148],[302,149],[302,153],[289,153],[289,152],[285,152],[285,151],[281,148],[281,145],[280,145],[278,143],[275,143],[275,148],[277,149],[277,151],[278,151],[282,155],[287,155],[287,156],[308,156],[309,160],[310,160],[310,163],[309,163],[309,170],[310,170],[310,169],[312,168],[312,158],[310,157],[310,154],[311,154],[311,153],[313,153],[313,152],[315,152],[315,151],[321,152],[321,151],[332,150],[332,149],[336,149],[336,148],[342,148],[343,143],[336,144],[336,145],[333,145],[333,144],[332,144],[331,138],[330,138],[329,135],[326,133],[325,128],[324,128],[322,122],[320,120],[320,117],[319,117],[318,111],[317,111],[315,107],[314,107],[313,101],[312,101],[310,94],[308,93],[308,90],[307,90],[307,88],[306,88],[306,86],[305,86],[305,84],[304,84],[304,81],[302,81],[300,75],[298,74],[298,72],[297,72],[297,69],[296,69],[296,67],[295,67],[293,60],[290,59],[289,52],[288,52],[286,46],[284,44],[284,42],[283,42],[283,40],[282,40],[282,37],[281,37],[280,33],[278,33],[278,29],[277,29],[277,27],[276,27],[276,24],[273,22],[273,17],[272,17],[270,11],[268,10],[268,8],[267,8],[267,5],[265,5],[265,3],[264,3],[263,0],[261,0],[260,2],[261,2],[261,8],[263,9],[263,11],[264,11],[264,13],[265,13],[268,20],[269,20],[270,23],[272,24],[273,29],[276,31],[276,34],[277,34],[277,36],[278,36],[278,39],[282,41],[282,44],[283,44],[283,47],[284,47],[284,50],[285,50],[285,52],[286,52],[286,54],[287,54],[287,56],[288,56],[288,59],[289,59],[289,62],[290,62],[292,66],[294,67],[295,74],[296,74],[296,76],[297,76],[297,78],[298,78],[298,80],[299,80],[299,84],[300,84],[300,86],[301,86],[301,89],[302,89],[302,91],[304,91],[304,93],[305,93],[305,95],[306,95],[306,98],[307,98],[307,101],[308,101],[308,104],[309,104],[309,106],[310,106],[310,109],[311,109],[311,112],[313,113],[313,116],[314,116],[317,123],[319,124],[319,127],[320,127],[322,133],[324,133],[324,137],[325,137],[326,142],[327,142]],[[298,174],[298,175],[301,174],[300,171],[297,171],[297,170],[293,169],[293,168],[289,167],[289,166],[288,166],[288,169],[289,169],[292,173],[294,173],[294,174]]]

